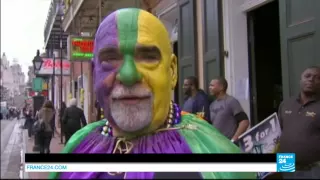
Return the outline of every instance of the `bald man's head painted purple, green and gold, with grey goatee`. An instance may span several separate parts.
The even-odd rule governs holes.
[[[113,127],[136,134],[164,123],[177,59],[159,19],[135,8],[113,12],[96,33],[93,63],[97,98]]]

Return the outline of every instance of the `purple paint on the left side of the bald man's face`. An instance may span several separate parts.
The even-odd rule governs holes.
[[[118,47],[118,27],[116,12],[107,16],[100,24],[95,38],[94,44],[94,89],[96,92],[97,100],[101,107],[104,109],[104,115],[112,121],[110,110],[108,107],[108,96],[112,87],[107,87],[103,81],[116,69],[106,62],[100,63],[99,52],[102,48]]]

